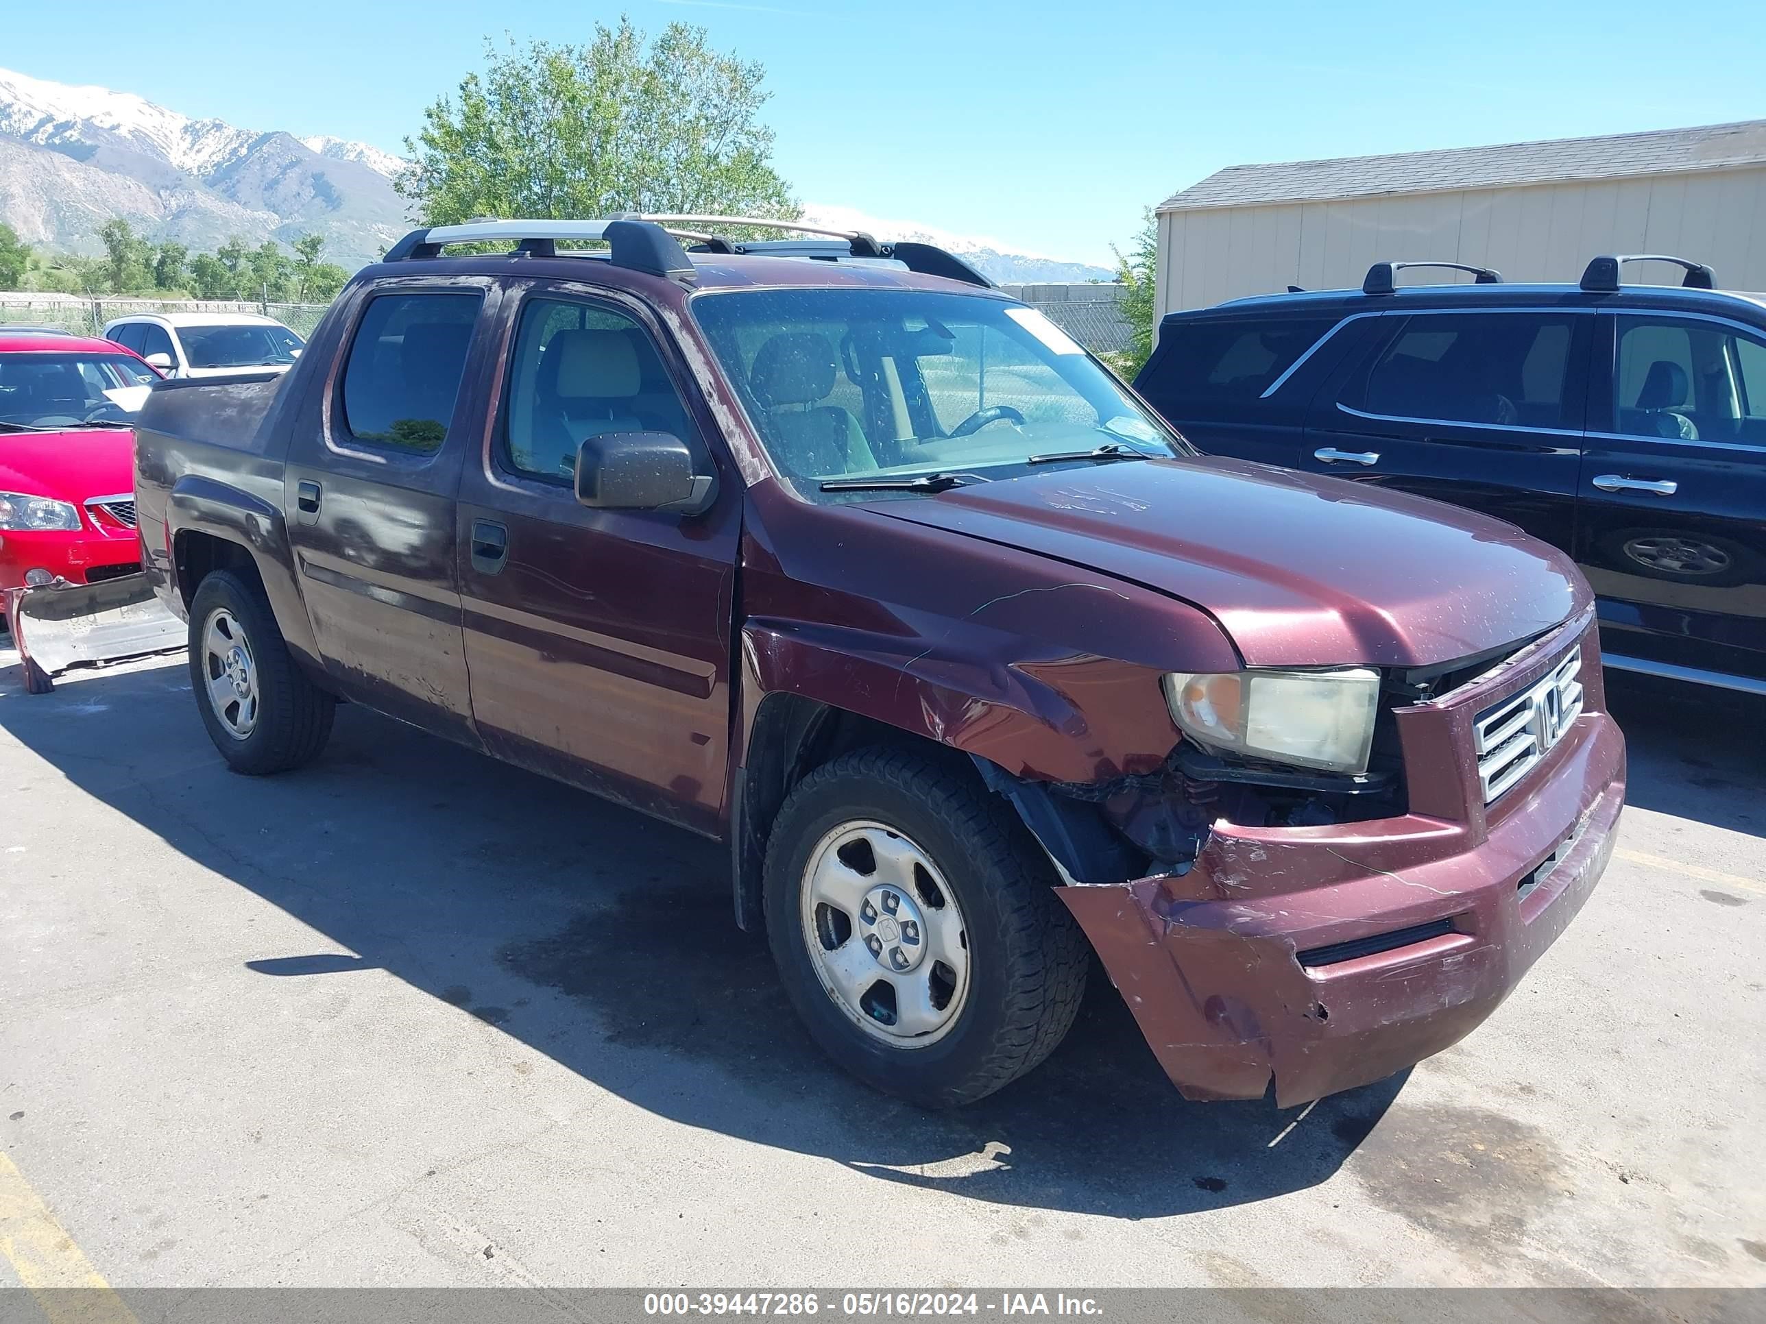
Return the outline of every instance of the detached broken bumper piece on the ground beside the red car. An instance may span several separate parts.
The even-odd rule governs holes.
[[[65,581],[5,590],[5,616],[25,688],[44,694],[78,664],[120,662],[187,646],[187,627],[154,595],[147,575],[95,584]]]

